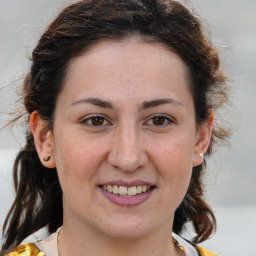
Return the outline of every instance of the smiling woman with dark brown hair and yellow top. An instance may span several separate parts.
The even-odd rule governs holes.
[[[180,2],[70,5],[34,49],[23,91],[3,255],[215,255],[197,246],[216,228],[201,179],[228,135],[214,121],[227,86]],[[188,222],[192,242],[179,236]],[[18,246],[43,227],[48,239]]]

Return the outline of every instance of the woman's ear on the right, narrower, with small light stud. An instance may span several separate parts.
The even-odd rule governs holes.
[[[194,149],[193,166],[198,166],[204,161],[204,154],[207,152],[213,128],[214,113],[211,110],[207,122],[200,124],[197,131],[196,145]]]

